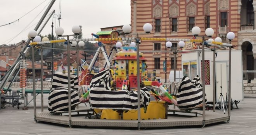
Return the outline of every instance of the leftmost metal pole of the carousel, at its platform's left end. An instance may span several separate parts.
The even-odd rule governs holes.
[[[31,47],[32,55],[32,76],[33,76],[33,100],[34,100],[34,120],[36,121],[36,83],[35,83],[35,46]]]

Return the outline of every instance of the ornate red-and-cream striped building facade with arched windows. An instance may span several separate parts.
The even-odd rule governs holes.
[[[243,70],[254,70],[256,57],[256,34],[254,12],[256,12],[256,0],[131,0],[131,26],[133,33],[142,33],[143,25],[150,23],[153,30],[150,34],[140,34],[140,37],[167,37],[192,39],[192,28],[201,28],[201,34],[209,27],[213,28],[214,35],[211,38],[221,37],[222,42],[228,42],[226,35],[232,31],[235,39],[232,44],[235,49],[243,50]],[[206,38],[208,39],[208,38]],[[172,47],[179,47],[173,42]],[[156,69],[162,82],[167,73],[175,67],[173,53],[165,53],[165,42],[143,41],[140,51],[144,52],[148,60],[148,70]],[[159,52],[157,52],[159,50]],[[167,49],[169,50],[169,49]],[[176,55],[176,70],[181,70],[181,54]],[[164,61],[167,61],[165,73]],[[254,74],[251,74],[254,78]],[[167,79],[168,81],[168,79]]]

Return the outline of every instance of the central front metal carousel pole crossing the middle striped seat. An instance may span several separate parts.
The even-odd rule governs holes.
[[[138,130],[140,130],[140,48],[139,48],[140,38],[136,38],[137,47],[137,88],[138,88]]]

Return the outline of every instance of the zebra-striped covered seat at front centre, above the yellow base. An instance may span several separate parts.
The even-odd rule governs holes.
[[[111,91],[111,70],[95,74],[90,83],[90,105],[97,109],[133,110],[138,108],[137,91]],[[147,88],[140,89],[140,107],[149,105],[150,93]]]

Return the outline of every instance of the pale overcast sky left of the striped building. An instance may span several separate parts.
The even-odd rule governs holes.
[[[35,29],[51,1],[1,0],[0,45],[15,44],[28,39],[28,32]],[[100,28],[130,24],[131,18],[130,0],[61,0],[61,3],[60,0],[56,0],[49,13],[52,10],[55,10],[55,18],[61,11],[60,27],[64,29],[64,35],[73,33],[72,26],[82,25],[83,38],[91,38],[91,33],[96,34]],[[31,12],[28,13],[29,11]],[[17,19],[19,21],[14,22]],[[9,24],[11,22],[14,23]],[[52,32],[52,22],[54,29],[58,27],[58,20],[51,17],[41,32],[42,35]]]

